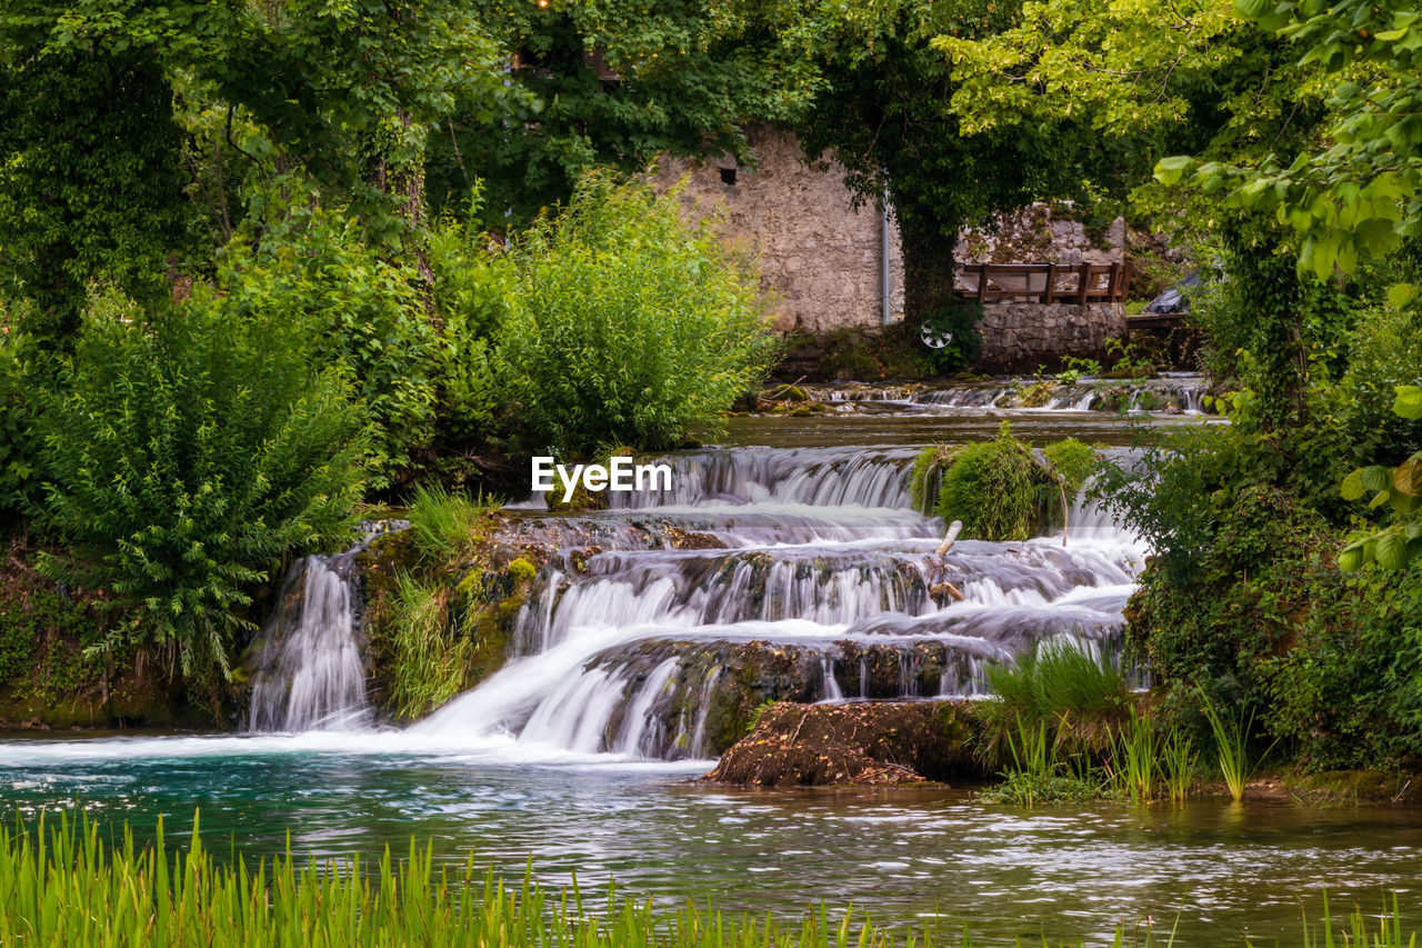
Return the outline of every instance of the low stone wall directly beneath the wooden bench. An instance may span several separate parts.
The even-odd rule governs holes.
[[[1024,372],[1062,356],[1102,359],[1106,340],[1126,335],[1126,310],[1121,303],[997,303],[983,307],[980,329],[980,367]]]

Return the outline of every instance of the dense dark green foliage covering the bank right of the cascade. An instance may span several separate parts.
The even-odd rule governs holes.
[[[1287,292],[1285,263],[1276,279]],[[1226,289],[1212,306],[1247,297]],[[1378,400],[1357,397],[1415,374],[1422,363],[1398,352],[1416,352],[1422,332],[1412,315],[1369,309],[1337,342],[1349,356],[1341,377],[1295,376],[1290,401],[1301,404],[1287,423],[1243,386],[1226,403],[1230,426],[1165,438],[1138,474],[1108,468],[1099,490],[1156,549],[1129,636],[1172,706],[1193,716],[1203,686],[1257,709],[1258,726],[1311,767],[1395,766],[1422,760],[1409,737],[1422,707],[1422,574],[1340,569],[1347,530],[1395,517],[1349,502],[1358,495],[1341,485],[1358,464],[1422,447],[1422,426],[1385,426]]]

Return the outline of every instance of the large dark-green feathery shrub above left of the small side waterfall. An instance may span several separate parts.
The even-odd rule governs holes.
[[[282,310],[95,299],[41,416],[46,515],[73,547],[43,569],[109,591],[132,611],[121,633],[166,643],[183,675],[226,672],[247,589],[344,537],[360,495],[350,387],[311,364]]]

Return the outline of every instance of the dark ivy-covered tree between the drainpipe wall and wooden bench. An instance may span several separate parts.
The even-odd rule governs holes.
[[[781,27],[785,41],[813,37],[809,56],[818,68],[813,104],[792,128],[811,155],[833,155],[846,168],[859,201],[887,201],[893,209],[910,320],[957,300],[953,255],[963,226],[1079,191],[1079,139],[1069,118],[973,130],[951,108],[957,83],[933,38],[984,37],[1008,26],[1011,7],[889,3]]]

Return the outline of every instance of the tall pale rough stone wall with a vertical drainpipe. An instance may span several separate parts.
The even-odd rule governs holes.
[[[683,198],[697,215],[721,211],[732,236],[759,256],[761,282],[778,297],[782,330],[825,332],[879,326],[882,216],[855,209],[839,165],[813,168],[799,142],[765,127],[747,130],[755,167],[731,155],[693,162],[663,158],[657,184],[685,179]],[[890,223],[890,312],[903,319],[903,259]]]

